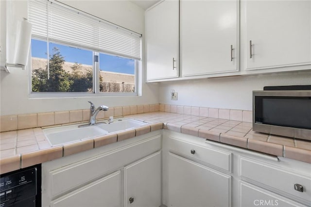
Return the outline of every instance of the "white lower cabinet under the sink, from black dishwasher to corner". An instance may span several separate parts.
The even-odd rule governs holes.
[[[42,207],[159,207],[161,142],[155,131],[42,163]]]

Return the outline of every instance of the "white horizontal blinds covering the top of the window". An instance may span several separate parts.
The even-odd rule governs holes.
[[[29,0],[32,35],[140,60],[141,35],[54,1]]]

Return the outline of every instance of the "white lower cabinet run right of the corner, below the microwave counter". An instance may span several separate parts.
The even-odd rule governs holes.
[[[163,130],[168,207],[311,206],[311,164]]]

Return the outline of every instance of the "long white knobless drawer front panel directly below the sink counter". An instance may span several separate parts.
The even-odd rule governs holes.
[[[49,174],[52,197],[161,149],[161,135],[94,156]]]

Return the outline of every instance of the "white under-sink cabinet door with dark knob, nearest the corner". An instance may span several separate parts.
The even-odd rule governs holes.
[[[124,167],[124,207],[161,205],[161,152]]]

